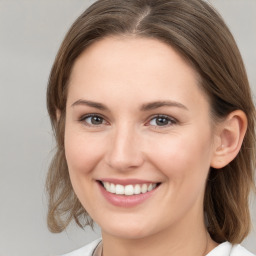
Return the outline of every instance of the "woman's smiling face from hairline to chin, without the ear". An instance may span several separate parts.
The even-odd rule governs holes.
[[[75,62],[66,158],[75,193],[104,234],[143,238],[202,225],[214,131],[198,84],[155,39],[105,38]]]

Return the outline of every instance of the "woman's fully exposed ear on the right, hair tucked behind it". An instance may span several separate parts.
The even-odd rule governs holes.
[[[220,169],[229,164],[240,151],[247,129],[247,117],[241,110],[231,112],[218,124],[211,167]]]

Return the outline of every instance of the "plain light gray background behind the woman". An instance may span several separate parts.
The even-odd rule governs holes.
[[[54,141],[45,106],[57,49],[93,1],[0,0],[0,256],[56,255],[95,239],[46,227],[44,180]],[[212,0],[230,26],[256,92],[256,0]],[[254,229],[256,203],[252,201]],[[256,233],[244,245],[256,254]]]

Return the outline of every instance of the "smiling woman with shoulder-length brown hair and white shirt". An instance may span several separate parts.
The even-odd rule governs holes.
[[[67,33],[48,111],[48,226],[99,224],[72,255],[252,255],[255,109],[221,17],[201,0],[100,0]]]

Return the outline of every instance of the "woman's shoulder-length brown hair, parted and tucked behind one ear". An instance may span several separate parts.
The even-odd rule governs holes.
[[[251,226],[248,199],[255,188],[255,109],[236,43],[219,14],[202,0],[99,0],[72,25],[55,59],[47,90],[57,141],[46,184],[49,229],[61,232],[72,219],[81,227],[93,223],[69,179],[64,149],[65,107],[75,60],[86,47],[111,35],[155,38],[175,48],[200,75],[213,120],[237,109],[246,114],[248,129],[241,150],[223,169],[210,170],[204,201],[212,238],[216,242],[241,242]]]

